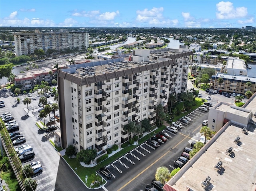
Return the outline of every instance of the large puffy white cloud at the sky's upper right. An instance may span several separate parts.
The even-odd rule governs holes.
[[[216,4],[217,11],[216,18],[217,19],[236,19],[236,18],[244,18],[247,15],[246,7],[237,7],[234,8],[232,2],[219,2]]]

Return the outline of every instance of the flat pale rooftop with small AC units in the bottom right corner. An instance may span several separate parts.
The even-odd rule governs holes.
[[[248,125],[248,134],[242,127],[231,124],[220,137],[202,154],[178,181],[172,185],[179,191],[189,187],[193,191],[254,191],[256,189],[255,125]],[[234,139],[240,136],[240,144]],[[234,154],[227,155],[232,147]],[[219,171],[215,165],[222,161]],[[204,189],[201,183],[210,176],[210,184]]]

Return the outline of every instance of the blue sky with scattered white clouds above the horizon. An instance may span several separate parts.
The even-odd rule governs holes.
[[[256,27],[256,0],[1,0],[0,26]]]

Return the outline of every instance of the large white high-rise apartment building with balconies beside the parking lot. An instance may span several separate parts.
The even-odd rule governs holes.
[[[166,109],[170,94],[186,91],[192,52],[133,50],[128,56],[70,65],[58,73],[62,147],[98,152],[128,140],[124,125]],[[121,57],[123,56],[123,57]]]

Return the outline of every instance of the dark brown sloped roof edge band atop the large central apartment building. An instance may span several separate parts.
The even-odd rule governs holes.
[[[58,77],[66,79],[68,81],[71,81],[72,83],[75,83],[77,85],[88,85],[88,84],[92,84],[92,83],[96,83],[96,82],[100,82],[100,81],[106,81],[108,79],[118,78],[118,77],[130,75],[130,74],[135,74],[135,73],[139,73],[139,72],[141,73],[143,71],[147,71],[147,70],[154,69],[154,68],[173,66],[173,65],[175,65],[176,58],[185,57],[185,56],[189,56],[192,54],[193,53],[190,51],[190,52],[179,53],[179,54],[175,54],[175,55],[169,55],[169,56],[165,56],[165,58],[170,58],[172,60],[162,61],[162,62],[158,62],[158,63],[154,63],[154,64],[147,64],[147,65],[138,66],[135,68],[124,69],[121,71],[114,71],[112,73],[95,75],[92,77],[78,77],[78,76],[70,74],[69,72],[65,72],[66,70],[65,71],[60,70],[58,73]]]

